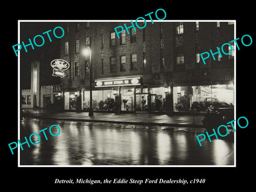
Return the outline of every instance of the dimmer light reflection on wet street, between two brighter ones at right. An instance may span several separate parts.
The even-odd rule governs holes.
[[[177,141],[177,151],[178,151],[177,156],[179,157],[179,159],[182,159],[182,161],[185,161],[188,155],[188,151],[187,151],[188,146],[187,146],[186,136],[187,134],[181,134],[181,133],[178,133],[174,136],[175,141]]]

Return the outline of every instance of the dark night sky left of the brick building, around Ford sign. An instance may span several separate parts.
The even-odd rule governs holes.
[[[60,39],[53,35],[53,29],[60,26],[58,22],[21,22],[20,23],[20,43],[23,41],[25,45],[29,44],[29,38],[31,42],[36,35],[42,35],[45,43],[41,47],[34,45],[34,50],[31,46],[27,46],[27,51],[24,47],[19,51],[20,57],[20,89],[30,89],[31,78],[31,62],[35,60],[40,61],[40,84],[43,85],[57,85],[60,83],[60,77],[52,76],[51,61],[60,58]],[[50,42],[47,34],[43,34],[45,31],[52,30],[49,35],[52,39]],[[57,30],[56,30],[57,33]],[[38,45],[42,44],[40,37],[36,38]],[[16,47],[17,49],[17,47]]]

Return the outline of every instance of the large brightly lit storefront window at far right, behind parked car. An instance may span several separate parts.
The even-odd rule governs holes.
[[[234,84],[173,87],[174,111],[206,112],[234,106]]]

